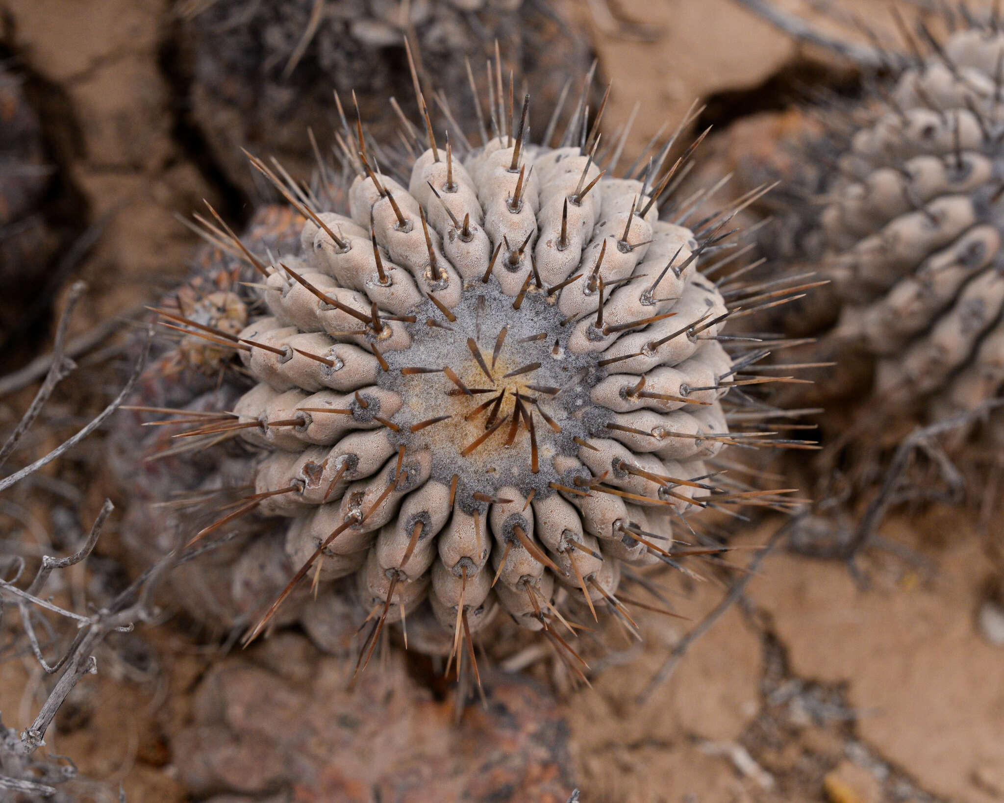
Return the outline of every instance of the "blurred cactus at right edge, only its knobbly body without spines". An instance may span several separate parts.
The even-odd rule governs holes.
[[[1004,386],[1001,53],[1004,35],[974,26],[906,69],[819,217],[843,304],[831,336],[874,355],[885,404],[939,419]]]

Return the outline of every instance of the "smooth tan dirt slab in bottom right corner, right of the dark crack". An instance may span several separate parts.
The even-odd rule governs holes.
[[[750,595],[795,677],[844,687],[858,738],[932,794],[990,803],[1004,795],[1004,678],[976,611],[993,567],[946,512],[890,522],[885,534],[917,546],[946,532],[930,577],[878,564],[861,591],[837,564],[781,557]]]

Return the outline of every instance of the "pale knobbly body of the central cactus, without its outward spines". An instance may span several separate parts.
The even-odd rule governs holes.
[[[340,528],[319,578],[355,572],[388,621],[428,596],[448,631],[496,602],[536,629],[555,580],[601,600],[621,561],[659,559],[626,528],[671,537],[690,507],[694,487],[659,478],[703,476],[722,447],[731,359],[720,324],[688,331],[722,296],[642,182],[576,195],[598,176],[578,148],[427,151],[408,189],[356,178],[350,217],[307,223],[261,289],[270,314],[241,333],[259,384],[235,412],[261,425],[241,431],[256,493],[295,489],[261,511],[291,517],[299,564]],[[626,496],[590,493],[599,478]]]

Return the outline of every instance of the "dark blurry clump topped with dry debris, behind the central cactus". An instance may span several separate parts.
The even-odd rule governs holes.
[[[591,59],[582,14],[563,2],[194,0],[179,10],[194,121],[227,177],[255,197],[266,188],[241,149],[309,169],[307,129],[322,148],[333,145],[332,89],[343,96],[354,90],[376,140],[398,143],[387,98],[396,95],[416,111],[406,36],[423,80],[446,90],[465,130],[475,123],[473,101],[460,95],[468,62],[483,73],[496,43],[534,87],[540,108],[556,102],[564,75],[584,72]],[[439,93],[429,103],[438,109]]]

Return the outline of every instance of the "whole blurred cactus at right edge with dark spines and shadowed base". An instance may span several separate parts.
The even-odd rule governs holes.
[[[770,3],[739,1],[795,35],[806,30]],[[819,93],[800,125],[788,112],[734,135],[779,138],[771,156],[738,166],[750,185],[784,180],[793,199],[764,228],[765,253],[830,282],[775,325],[818,339],[798,359],[839,363],[808,374],[816,384],[795,404],[830,409],[823,479],[855,500],[889,482],[892,453],[917,428],[934,428],[963,469],[992,461],[1004,442],[1004,32],[995,14],[964,6],[935,20],[941,33],[915,23],[900,25],[907,53],[837,48],[865,68],[860,97]],[[971,485],[973,498],[985,480]]]

